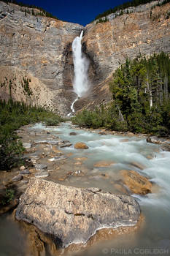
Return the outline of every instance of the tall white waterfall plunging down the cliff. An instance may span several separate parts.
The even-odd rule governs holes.
[[[74,103],[77,102],[82,96],[84,96],[89,89],[89,81],[88,81],[88,67],[89,61],[82,53],[82,35],[83,31],[81,31],[80,37],[74,38],[72,42],[72,52],[73,52],[73,63],[74,63],[74,81],[73,81],[73,89],[77,94],[77,98],[72,102],[71,110],[72,113],[74,110]],[[72,113],[69,113],[68,116],[71,116]]]

